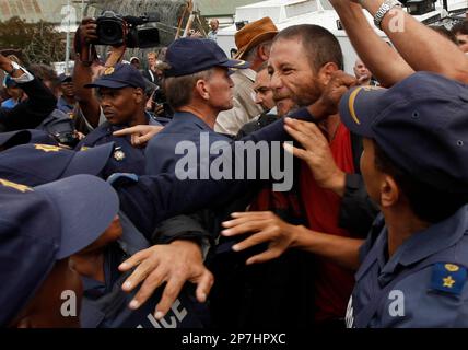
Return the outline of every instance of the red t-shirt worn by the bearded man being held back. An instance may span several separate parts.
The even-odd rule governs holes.
[[[354,173],[351,136],[341,122],[330,142],[330,149],[338,167],[346,173]],[[300,178],[301,197],[309,228],[338,236],[351,236],[348,231],[338,226],[341,198],[331,190],[318,187],[305,162],[302,164]],[[317,260],[315,319],[323,322],[344,317],[354,285],[353,272],[328,260]]]

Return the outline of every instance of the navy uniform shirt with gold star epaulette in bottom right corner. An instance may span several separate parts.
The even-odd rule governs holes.
[[[376,219],[347,311],[348,327],[468,327],[468,206],[413,234],[388,259]],[[374,243],[372,243],[374,241]],[[372,312],[372,311],[375,311]]]

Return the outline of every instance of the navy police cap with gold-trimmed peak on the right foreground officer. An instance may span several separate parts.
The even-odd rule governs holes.
[[[418,72],[391,89],[360,86],[340,101],[354,133],[375,140],[408,175],[437,189],[468,191],[468,86]]]

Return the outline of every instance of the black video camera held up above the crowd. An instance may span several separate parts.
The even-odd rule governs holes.
[[[160,16],[155,13],[143,16],[122,16],[113,11],[105,11],[96,19],[97,42],[93,44],[110,46],[126,44],[128,48],[159,46],[160,31],[156,27],[143,26],[156,22],[160,22]]]

